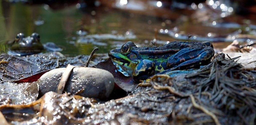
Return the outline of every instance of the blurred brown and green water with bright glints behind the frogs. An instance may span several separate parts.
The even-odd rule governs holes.
[[[255,43],[255,0],[0,0],[0,48],[18,33],[36,32],[62,54],[108,53],[126,41],[157,46],[210,41],[221,51],[234,40]],[[190,36],[190,37],[188,37]]]

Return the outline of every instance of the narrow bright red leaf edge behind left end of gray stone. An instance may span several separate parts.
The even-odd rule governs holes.
[[[34,74],[34,75],[32,75],[32,76],[25,77],[25,78],[19,79],[19,80],[14,80],[13,82],[15,82],[15,83],[23,83],[23,82],[29,82],[29,83],[31,83],[31,82],[35,82],[35,81],[37,81],[44,73],[46,73],[46,72],[48,72],[48,71],[50,71],[50,70],[51,70],[51,69],[46,70],[46,71],[41,71],[41,72],[38,72],[38,73],[36,73],[36,74]]]

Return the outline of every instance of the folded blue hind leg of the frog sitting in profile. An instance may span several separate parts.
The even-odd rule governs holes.
[[[167,67],[177,67],[179,69],[188,69],[207,64],[214,56],[214,49],[209,46],[187,47],[176,54],[170,56],[167,60]]]

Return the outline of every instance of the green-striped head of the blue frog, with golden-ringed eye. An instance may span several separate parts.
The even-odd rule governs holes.
[[[138,64],[138,62],[134,61],[138,59],[137,53],[134,51],[135,48],[137,46],[133,42],[128,41],[122,47],[112,49],[108,54],[113,62],[120,65],[130,76],[132,76],[132,72]]]

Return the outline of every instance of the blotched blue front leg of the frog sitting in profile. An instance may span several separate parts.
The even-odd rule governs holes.
[[[134,81],[145,80],[148,77],[154,75],[155,73],[155,63],[151,60],[144,59],[134,60],[139,62],[135,69],[133,70],[133,79]]]

